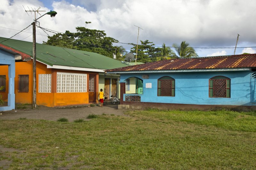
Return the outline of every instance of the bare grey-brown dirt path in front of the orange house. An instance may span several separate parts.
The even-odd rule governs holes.
[[[26,107],[26,108],[25,108]],[[23,108],[0,112],[0,119],[41,119],[56,121],[59,118],[67,118],[69,122],[76,119],[84,119],[89,114],[95,115],[122,115],[126,116],[124,112],[127,110],[118,109],[118,105],[104,105],[103,107],[72,107],[72,108],[56,108],[56,107],[45,107],[38,106],[36,109],[32,109],[31,105],[23,106]]]

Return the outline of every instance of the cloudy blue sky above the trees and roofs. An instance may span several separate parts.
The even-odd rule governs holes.
[[[54,31],[75,32],[77,26],[90,21],[88,28],[104,30],[122,43],[136,44],[136,26],[140,26],[143,30],[139,40],[149,40],[156,46],[186,41],[199,47],[199,56],[232,55],[239,33],[236,54],[256,53],[256,48],[250,48],[256,47],[254,0],[1,0],[1,37],[9,38],[33,22],[34,16],[28,16],[22,5],[26,9],[40,6],[40,10],[56,11],[54,18],[40,18],[41,27]],[[31,35],[29,27],[14,39],[32,41]],[[47,34],[37,28],[37,42],[43,41],[47,41]],[[127,51],[132,47],[116,45]]]

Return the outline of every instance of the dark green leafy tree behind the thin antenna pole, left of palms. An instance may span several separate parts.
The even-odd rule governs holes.
[[[150,63],[156,61],[156,56],[161,55],[161,48],[153,47],[155,45],[153,42],[140,40],[140,43],[141,45],[138,45],[137,62]],[[130,44],[133,45],[130,52],[134,53],[136,56],[137,44]]]

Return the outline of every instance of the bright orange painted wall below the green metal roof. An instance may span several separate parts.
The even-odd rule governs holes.
[[[16,62],[15,67],[15,102],[32,104],[33,96],[33,60],[28,62]],[[8,66],[0,66],[1,74],[6,75],[6,92],[1,92],[4,101],[8,100]],[[57,72],[87,74],[87,92],[57,93]],[[28,74],[28,92],[18,92],[18,75]],[[52,74],[52,92],[38,93],[38,74]],[[76,70],[47,69],[43,63],[36,62],[36,104],[48,107],[68,106],[89,103],[89,74],[96,75],[96,102],[98,102],[99,74]]]

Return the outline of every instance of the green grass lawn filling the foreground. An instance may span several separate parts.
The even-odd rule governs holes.
[[[11,161],[10,169],[256,169],[254,112],[127,115],[85,122],[0,120],[0,145],[16,149],[0,152],[0,162]]]

